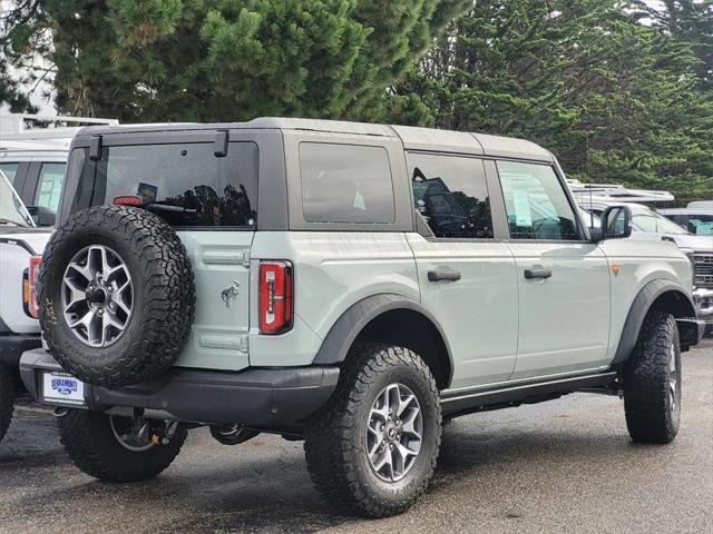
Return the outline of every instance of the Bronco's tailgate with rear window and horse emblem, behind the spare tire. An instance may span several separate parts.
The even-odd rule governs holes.
[[[96,186],[82,176],[70,211],[124,195],[150,202],[178,233],[195,274],[195,320],[176,365],[246,367],[257,145],[229,142],[216,157],[215,132],[113,137],[104,136],[101,159],[84,166],[82,175],[94,172]]]

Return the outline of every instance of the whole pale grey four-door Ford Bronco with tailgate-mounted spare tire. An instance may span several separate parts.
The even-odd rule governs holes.
[[[76,465],[153,477],[186,434],[304,438],[332,503],[408,508],[443,421],[574,392],[671,442],[688,258],[588,229],[524,140],[354,122],[87,128],[20,370]]]

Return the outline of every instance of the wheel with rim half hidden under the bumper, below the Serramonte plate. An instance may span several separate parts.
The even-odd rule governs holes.
[[[177,428],[167,436],[163,428],[163,422],[85,409],[70,409],[59,418],[60,442],[71,461],[105,482],[146,481],[168,467],[187,432]]]

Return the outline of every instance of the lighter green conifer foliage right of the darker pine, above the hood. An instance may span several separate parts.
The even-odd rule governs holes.
[[[712,197],[713,90],[697,43],[713,24],[678,17],[701,32],[684,39],[663,17],[641,19],[618,0],[478,1],[398,92],[439,127],[539,142],[573,178]]]

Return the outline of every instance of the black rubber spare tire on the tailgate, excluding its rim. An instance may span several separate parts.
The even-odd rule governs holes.
[[[116,251],[134,285],[126,329],[104,348],[82,343],[61,309],[67,265],[90,245]],[[52,356],[90,384],[121,387],[152,378],[174,364],[191,334],[195,285],[186,249],[170,226],[143,209],[97,206],[69,217],[45,249],[39,285],[39,318]]]

